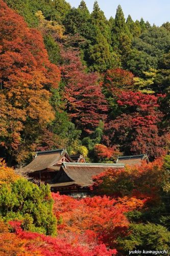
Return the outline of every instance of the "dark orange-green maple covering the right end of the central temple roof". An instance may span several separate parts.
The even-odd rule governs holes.
[[[119,201],[122,205],[134,205],[137,208],[150,200],[158,200],[166,179],[165,173],[162,159],[150,163],[143,161],[141,166],[108,169],[107,172],[93,177],[93,189],[101,194],[121,197]]]

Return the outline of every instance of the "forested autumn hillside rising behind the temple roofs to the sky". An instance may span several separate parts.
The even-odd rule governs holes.
[[[104,162],[168,153],[168,22],[126,20],[120,6],[107,20],[97,2],[92,13],[84,1],[5,2],[15,12],[2,4],[1,157],[22,165],[62,147]]]

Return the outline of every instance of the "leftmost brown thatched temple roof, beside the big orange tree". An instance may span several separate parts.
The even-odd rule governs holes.
[[[66,150],[52,150],[52,151],[43,151],[37,152],[35,158],[27,166],[23,167],[23,172],[33,173],[39,170],[44,170],[46,168],[59,170],[59,166],[55,166],[62,158],[66,157],[72,162],[72,159],[69,158]]]

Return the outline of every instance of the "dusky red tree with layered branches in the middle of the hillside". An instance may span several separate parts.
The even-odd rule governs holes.
[[[78,52],[62,50],[67,113],[79,128],[91,133],[100,120],[106,119],[107,102],[102,94],[98,76],[85,73]]]

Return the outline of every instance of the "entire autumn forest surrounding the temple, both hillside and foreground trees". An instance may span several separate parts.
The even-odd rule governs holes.
[[[169,248],[169,70],[169,22],[126,19],[120,6],[108,20],[97,2],[90,13],[84,1],[0,0],[1,255]],[[80,200],[11,167],[56,148],[150,163],[94,177],[96,196]]]

